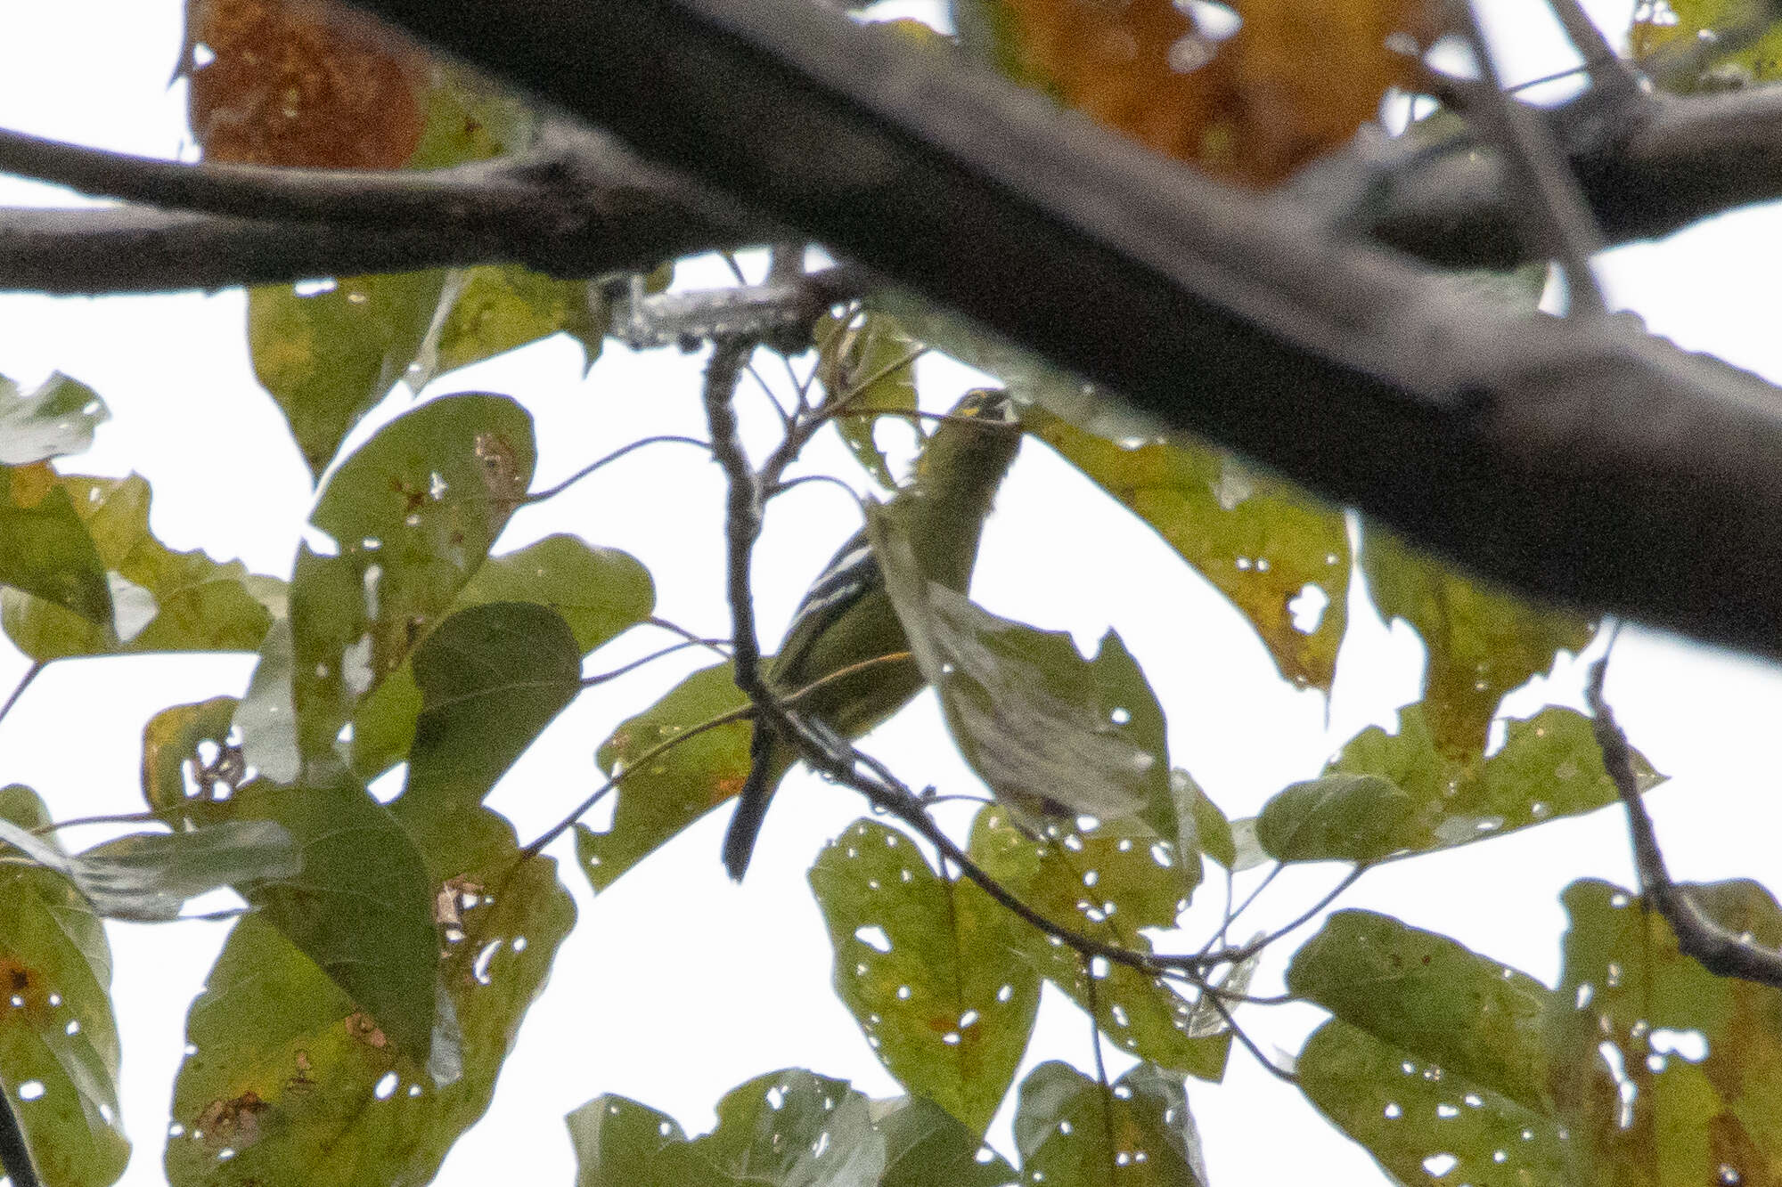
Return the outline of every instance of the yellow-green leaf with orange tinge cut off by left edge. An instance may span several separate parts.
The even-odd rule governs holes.
[[[96,627],[110,626],[105,561],[46,465],[0,467],[0,585],[18,590],[0,602],[9,634],[32,604],[20,594],[66,608]]]

